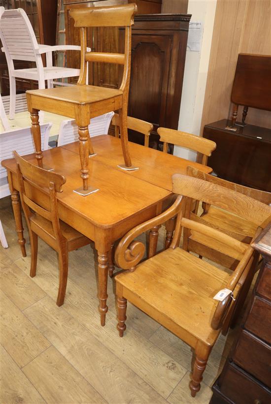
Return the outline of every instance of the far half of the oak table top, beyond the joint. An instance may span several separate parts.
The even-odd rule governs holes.
[[[134,171],[124,171],[118,167],[118,164],[124,162],[120,139],[109,135],[100,135],[91,137],[91,142],[94,152],[97,153],[97,155],[91,157],[90,160],[99,161],[115,170],[124,172],[129,176],[169,191],[172,191],[172,175],[186,174],[186,168],[189,165],[192,165],[205,173],[212,172],[210,167],[204,166],[203,164],[169,155],[133,142],[129,142],[129,152],[132,164],[139,167],[139,169]],[[62,147],[78,155],[78,143],[79,142],[69,143]]]

